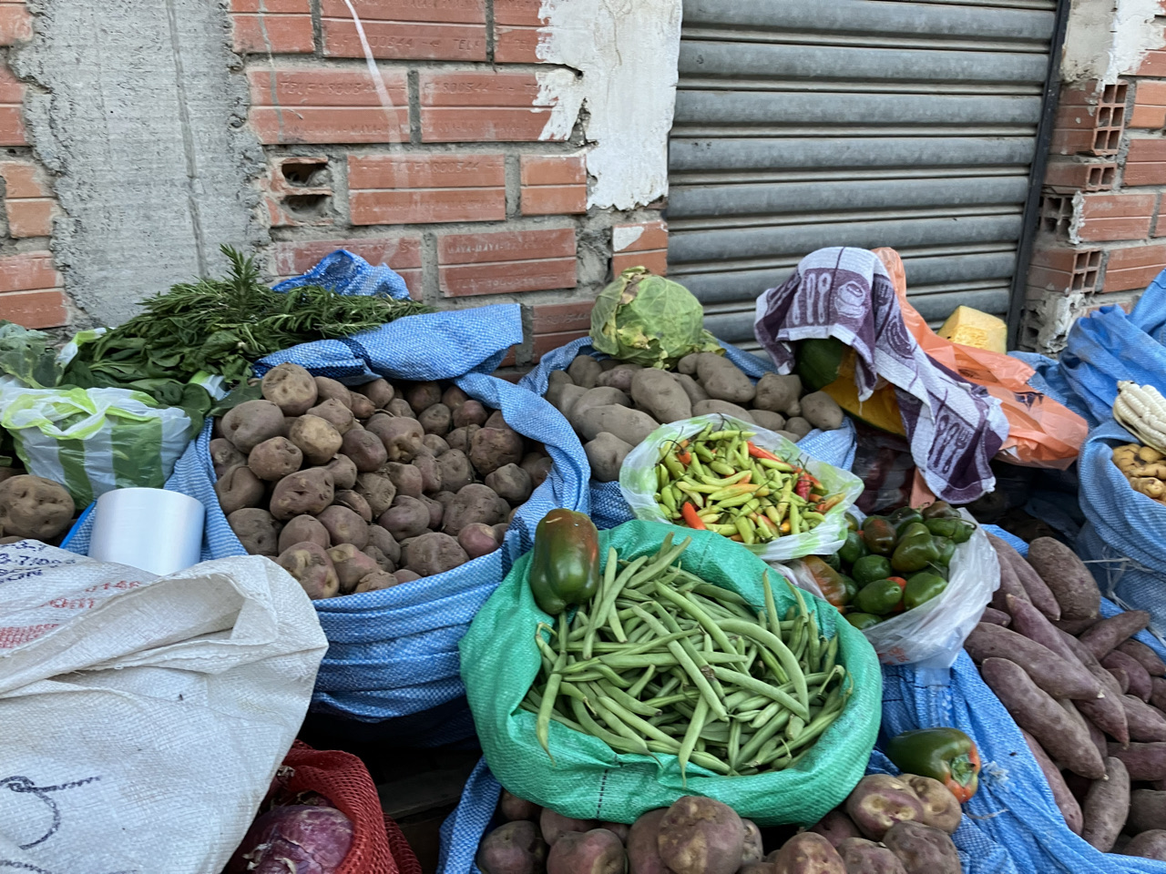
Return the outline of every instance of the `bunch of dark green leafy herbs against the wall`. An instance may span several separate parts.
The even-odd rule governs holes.
[[[254,259],[230,246],[222,251],[231,261],[226,279],[180,283],[143,301],[143,312],[82,344],[64,381],[138,388],[174,403],[174,383],[197,373],[237,383],[250,375],[252,361],[268,353],[431,311],[412,301],[342,295],[319,286],[273,291],[260,282]]]

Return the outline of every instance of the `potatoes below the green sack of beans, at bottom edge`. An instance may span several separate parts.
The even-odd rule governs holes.
[[[507,822],[478,845],[483,874],[960,874],[949,837],[960,803],[914,775],[863,777],[843,806],[768,854],[757,824],[698,796],[631,826],[570,819],[505,790],[498,813]]]

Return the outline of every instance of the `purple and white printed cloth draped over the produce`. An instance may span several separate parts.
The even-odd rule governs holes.
[[[836,246],[803,258],[785,284],[758,298],[753,333],[779,373],[793,369],[796,340],[836,337],[851,346],[858,400],[879,376],[894,386],[911,456],[932,492],[968,503],[992,489],[988,463],[1009,436],[999,401],[919,347],[873,252]]]

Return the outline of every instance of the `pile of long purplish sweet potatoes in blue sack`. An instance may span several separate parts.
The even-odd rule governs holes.
[[[1069,829],[1108,853],[1166,860],[1166,664],[1133,639],[1150,614],[1101,618],[1073,551],[1025,561],[991,538],[1000,587],[965,642],[1020,726]]]

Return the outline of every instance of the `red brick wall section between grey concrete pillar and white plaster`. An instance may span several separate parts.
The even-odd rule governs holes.
[[[384,94],[345,0],[231,0],[273,273],[343,246],[436,306],[518,302],[526,365],[586,333],[612,269],[666,269],[663,204],[589,211],[581,128],[541,139],[539,0],[350,1]]]

